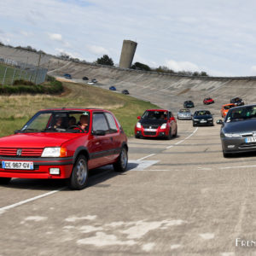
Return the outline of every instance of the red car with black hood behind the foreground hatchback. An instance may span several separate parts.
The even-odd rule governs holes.
[[[171,111],[166,109],[148,109],[143,116],[138,116],[135,125],[135,137],[166,137],[177,136],[177,121]]]

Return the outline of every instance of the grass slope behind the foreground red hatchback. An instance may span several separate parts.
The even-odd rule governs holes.
[[[133,136],[137,116],[147,108],[158,108],[108,90],[86,84],[63,83],[61,96],[14,95],[0,96],[0,137],[13,134],[40,109],[45,108],[104,108],[112,111],[123,126],[127,136]]]

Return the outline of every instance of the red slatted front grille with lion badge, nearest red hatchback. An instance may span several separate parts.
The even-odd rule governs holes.
[[[17,150],[21,149],[21,155],[17,155]],[[0,148],[2,156],[17,156],[17,157],[40,157],[44,148]]]

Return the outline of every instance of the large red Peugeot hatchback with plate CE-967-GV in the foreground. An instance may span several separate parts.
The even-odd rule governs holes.
[[[71,189],[84,189],[90,169],[113,164],[124,172],[127,151],[125,132],[107,110],[41,110],[15,135],[0,138],[0,183],[12,177],[62,178]]]

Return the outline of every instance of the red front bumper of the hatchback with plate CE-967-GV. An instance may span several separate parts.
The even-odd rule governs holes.
[[[4,169],[4,161],[33,162],[33,170]],[[49,168],[59,168],[60,174],[49,173]],[[0,177],[20,178],[67,178],[73,170],[73,157],[67,158],[10,158],[0,157]]]

